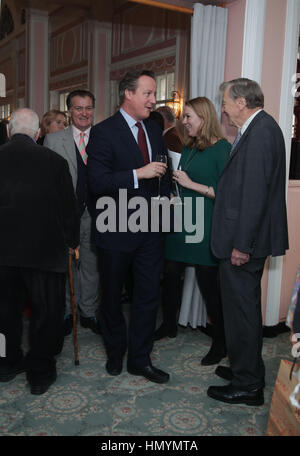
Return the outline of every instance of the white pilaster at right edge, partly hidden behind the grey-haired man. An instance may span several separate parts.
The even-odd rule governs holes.
[[[288,190],[288,175],[291,153],[291,125],[293,118],[294,98],[292,95],[293,79],[296,73],[298,39],[300,23],[299,0],[287,0],[285,43],[282,65],[282,83],[280,95],[279,125],[283,131],[286,147],[286,190]],[[270,260],[268,277],[266,325],[274,326],[279,321],[283,257]]]

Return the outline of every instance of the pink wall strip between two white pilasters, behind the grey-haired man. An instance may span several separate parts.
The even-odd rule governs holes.
[[[285,19],[286,0],[267,0],[261,86],[265,95],[265,110],[277,121],[280,111]]]

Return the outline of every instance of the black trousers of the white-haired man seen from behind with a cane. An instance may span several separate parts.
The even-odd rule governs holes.
[[[6,338],[6,357],[0,366],[23,359],[23,312],[31,304],[26,372],[43,377],[55,369],[63,345],[65,274],[0,266],[0,333]]]

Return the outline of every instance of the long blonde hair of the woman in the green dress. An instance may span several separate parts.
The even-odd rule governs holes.
[[[184,145],[197,149],[205,149],[215,144],[219,139],[223,139],[223,133],[217,112],[212,102],[206,97],[197,97],[185,103],[186,106],[195,111],[198,117],[203,119],[203,125],[199,128],[197,136],[185,137]]]

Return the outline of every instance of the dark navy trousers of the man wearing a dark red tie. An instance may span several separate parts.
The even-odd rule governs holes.
[[[159,305],[162,239],[149,233],[145,233],[144,239],[132,252],[99,248],[102,291],[99,320],[107,356],[121,359],[128,347],[127,363],[131,366],[146,366],[151,362]],[[133,297],[127,338],[121,294],[130,266]]]

